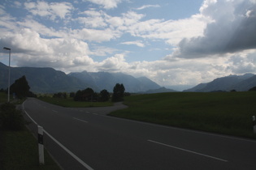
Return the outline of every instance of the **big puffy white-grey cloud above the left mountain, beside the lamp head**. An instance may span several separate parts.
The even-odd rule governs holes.
[[[0,45],[9,45],[18,66],[50,66],[68,69],[93,63],[87,43],[76,39],[44,39],[29,28],[0,38]]]

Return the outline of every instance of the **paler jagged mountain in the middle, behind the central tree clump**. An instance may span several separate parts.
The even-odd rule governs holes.
[[[68,75],[89,83],[91,87],[97,90],[106,89],[107,91],[113,91],[113,87],[115,87],[116,83],[123,83],[125,91],[128,92],[148,91],[160,87],[157,83],[154,83],[146,77],[134,78],[132,75],[123,73],[95,73],[83,71],[80,73],[70,73]]]

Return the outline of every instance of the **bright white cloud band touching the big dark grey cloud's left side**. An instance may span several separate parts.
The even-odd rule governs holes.
[[[149,19],[132,24],[127,32],[150,40],[165,40],[167,44],[176,46],[184,37],[202,36],[208,22],[210,20],[202,15],[178,20]]]

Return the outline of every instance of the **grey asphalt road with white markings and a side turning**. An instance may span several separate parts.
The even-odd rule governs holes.
[[[29,98],[23,107],[63,169],[256,169],[254,140],[106,116],[122,104],[63,108]]]

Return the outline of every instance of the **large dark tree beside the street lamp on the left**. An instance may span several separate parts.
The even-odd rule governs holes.
[[[22,99],[28,96],[29,89],[26,77],[22,76],[20,79],[16,79],[15,83],[11,84],[10,92],[15,93],[19,99]]]

